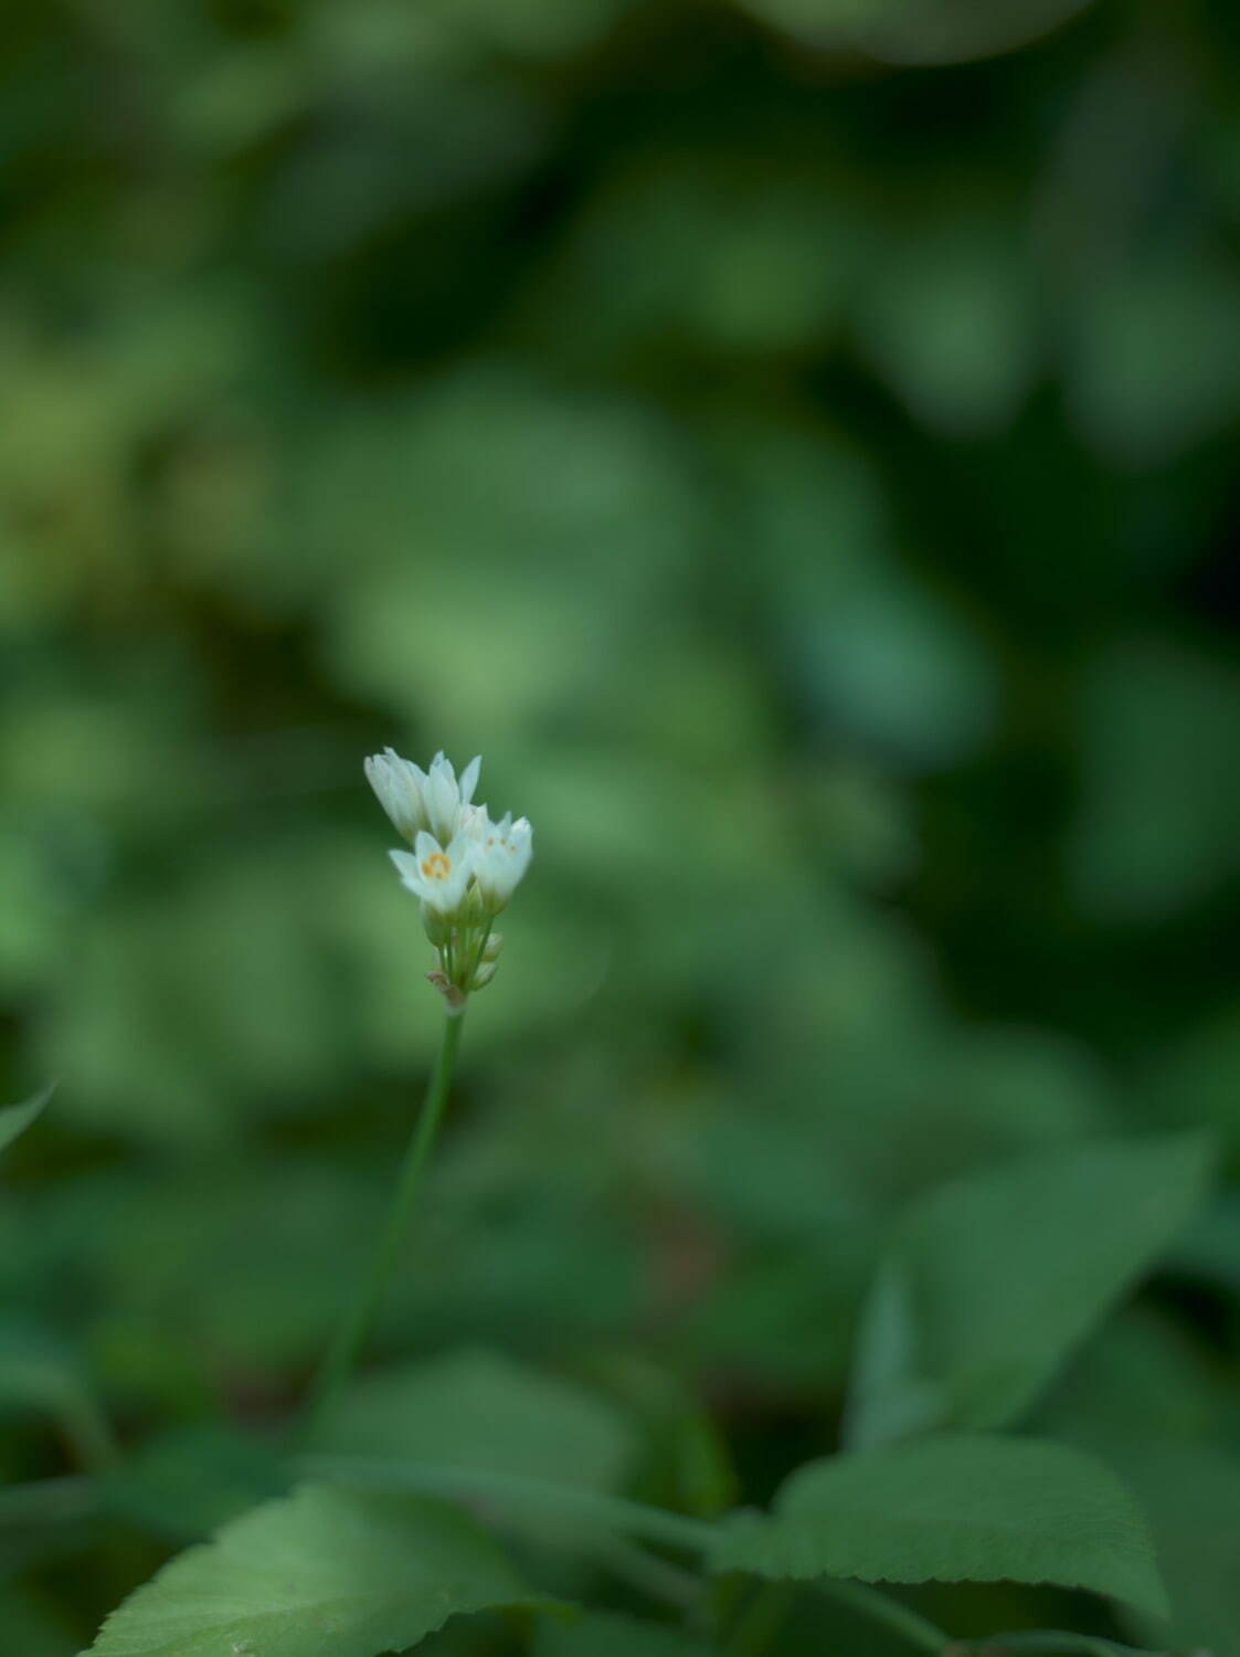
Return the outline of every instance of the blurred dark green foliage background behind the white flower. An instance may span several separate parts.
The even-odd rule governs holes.
[[[387,742],[536,827],[389,1355],[662,1365],[758,1500],[917,1191],[1235,1170],[1238,93],[1225,0],[8,8],[0,1347],[296,1397],[437,1039]],[[1061,1403],[1214,1470],[1218,1652],[1237,1289],[1232,1191]]]

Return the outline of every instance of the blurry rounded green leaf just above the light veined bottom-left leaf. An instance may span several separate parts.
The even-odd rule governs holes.
[[[315,1448],[614,1490],[634,1435],[584,1387],[465,1350],[358,1382]]]

